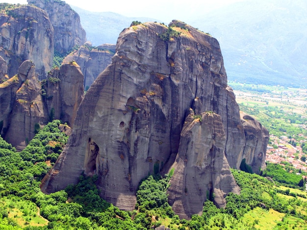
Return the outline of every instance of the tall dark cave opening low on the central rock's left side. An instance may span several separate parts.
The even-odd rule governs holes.
[[[84,160],[84,173],[88,176],[99,174],[99,147],[98,145],[88,139],[86,154]]]

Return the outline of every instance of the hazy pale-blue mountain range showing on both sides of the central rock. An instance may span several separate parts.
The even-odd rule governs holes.
[[[72,7],[94,46],[116,44],[119,33],[132,21],[159,22]],[[186,23],[218,39],[229,80],[307,87],[306,12],[305,0],[251,0],[195,16]]]

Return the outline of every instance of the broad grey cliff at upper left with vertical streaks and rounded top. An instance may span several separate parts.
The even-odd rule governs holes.
[[[35,6],[11,5],[0,14],[0,56],[8,75],[14,76],[26,60],[35,63],[39,79],[46,77],[53,61],[53,27],[47,13]]]

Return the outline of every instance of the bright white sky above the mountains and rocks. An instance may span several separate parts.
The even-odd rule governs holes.
[[[221,6],[244,0],[65,0],[70,5],[93,12],[114,12],[127,17],[147,17],[170,22],[182,21],[191,15],[202,15]],[[27,4],[26,0],[0,2]],[[133,2],[133,3],[132,3]]]

